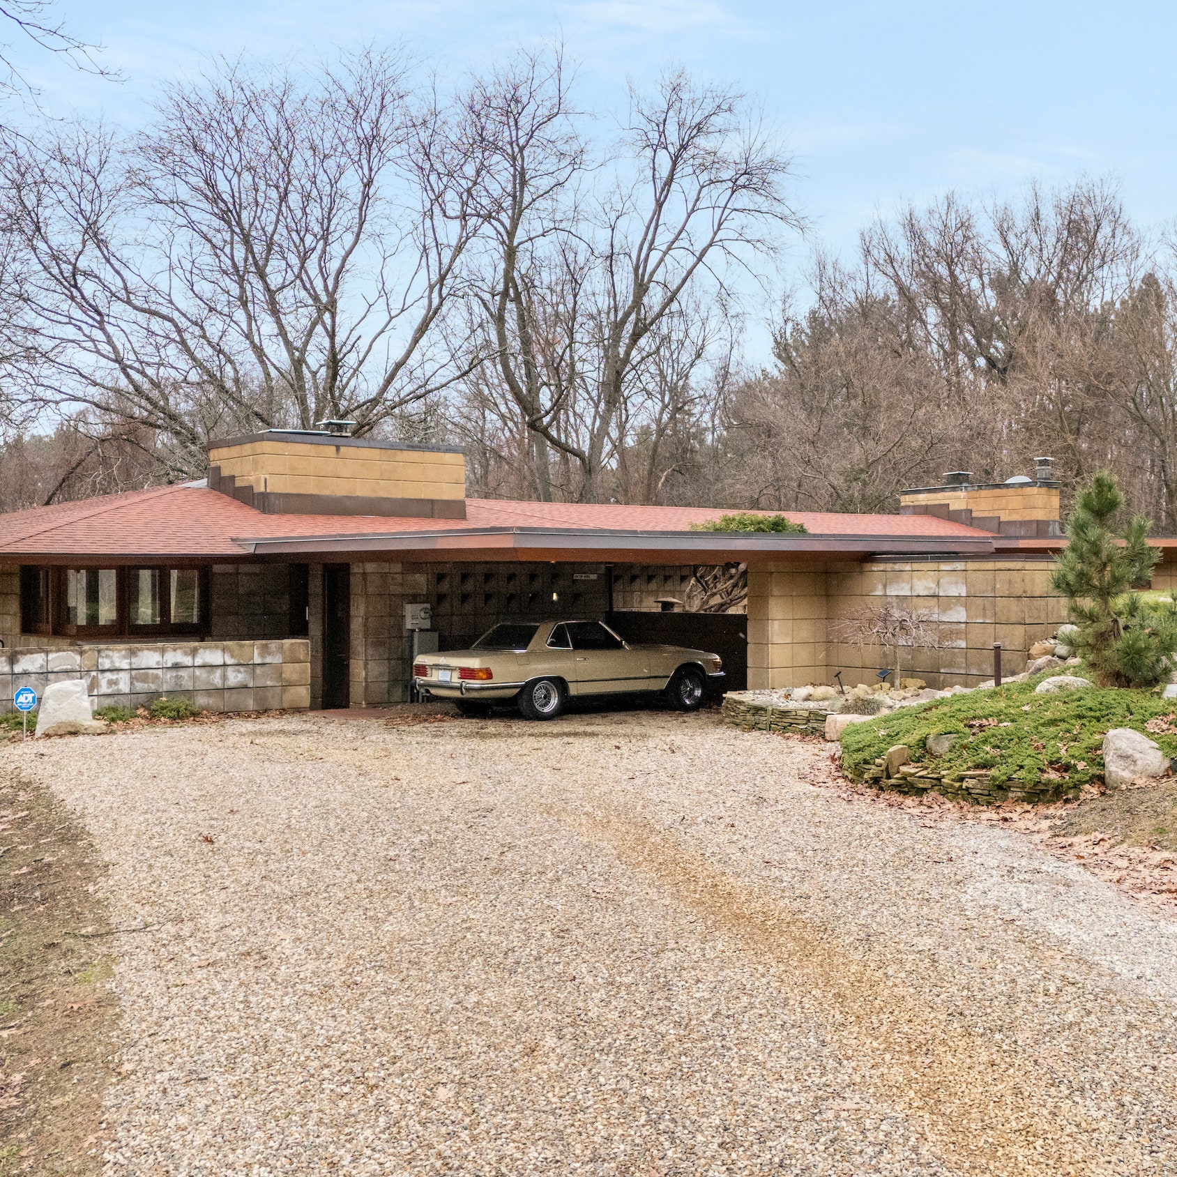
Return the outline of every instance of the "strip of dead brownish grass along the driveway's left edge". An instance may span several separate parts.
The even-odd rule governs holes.
[[[0,778],[0,1177],[98,1173],[118,1002],[102,867],[38,786]]]

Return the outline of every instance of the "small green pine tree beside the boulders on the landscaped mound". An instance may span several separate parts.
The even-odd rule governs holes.
[[[1148,588],[1161,551],[1148,541],[1149,520],[1123,531],[1112,523],[1124,496],[1110,474],[1096,474],[1066,520],[1070,540],[1051,586],[1065,593],[1078,626],[1073,646],[1102,686],[1156,686],[1173,670],[1177,600],[1153,604],[1132,592]],[[1069,643],[1071,644],[1071,643]]]

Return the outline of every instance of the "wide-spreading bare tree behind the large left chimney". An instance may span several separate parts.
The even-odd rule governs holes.
[[[33,267],[36,393],[169,438],[350,417],[366,432],[457,372],[438,317],[483,224],[481,164],[395,54],[311,80],[224,65],[144,134],[51,132],[6,165]]]

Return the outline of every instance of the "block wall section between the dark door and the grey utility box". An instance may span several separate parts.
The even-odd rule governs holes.
[[[352,565],[350,693],[353,707],[405,701],[412,672],[412,646],[405,631],[404,606],[408,601],[425,600],[425,592],[424,571],[383,561]]]

